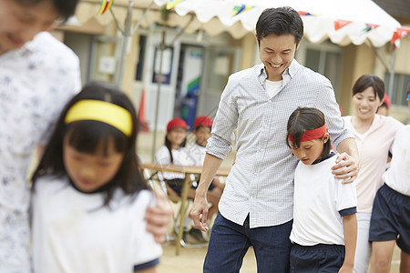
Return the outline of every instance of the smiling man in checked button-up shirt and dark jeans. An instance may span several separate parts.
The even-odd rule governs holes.
[[[266,9],[256,25],[261,65],[230,76],[207,145],[191,217],[206,231],[206,192],[237,129],[236,161],[220,199],[204,272],[239,272],[253,246],[259,272],[287,272],[292,229],[293,173],[298,159],[286,146],[286,122],[298,106],[326,116],[333,147],[341,153],[337,178],[352,182],[358,172],[353,136],[344,127],[333,87],[324,76],[301,66],[294,54],[303,24],[291,7]]]

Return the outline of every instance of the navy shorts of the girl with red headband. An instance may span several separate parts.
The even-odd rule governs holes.
[[[343,261],[344,246],[319,244],[304,247],[292,244],[292,273],[339,272],[343,266]]]

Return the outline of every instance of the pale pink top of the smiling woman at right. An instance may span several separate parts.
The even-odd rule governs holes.
[[[352,125],[352,116],[343,116],[345,126],[356,138],[359,150],[360,170],[356,178],[357,212],[371,213],[374,196],[382,187],[382,176],[391,150],[395,133],[404,126],[391,116],[374,116],[372,126],[359,134]]]

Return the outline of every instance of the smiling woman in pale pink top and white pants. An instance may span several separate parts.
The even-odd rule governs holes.
[[[389,151],[396,131],[403,126],[391,116],[377,115],[383,104],[384,82],[378,76],[359,77],[353,86],[354,116],[343,116],[355,136],[359,149],[360,171],[356,178],[358,234],[354,272],[367,272],[371,256],[370,217],[374,196],[383,185]]]

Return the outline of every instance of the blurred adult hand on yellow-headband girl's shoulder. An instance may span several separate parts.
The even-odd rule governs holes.
[[[167,237],[168,224],[172,219],[174,211],[169,203],[168,197],[161,189],[155,189],[155,207],[147,207],[145,220],[147,221],[147,231],[154,235],[157,243],[163,243]]]

